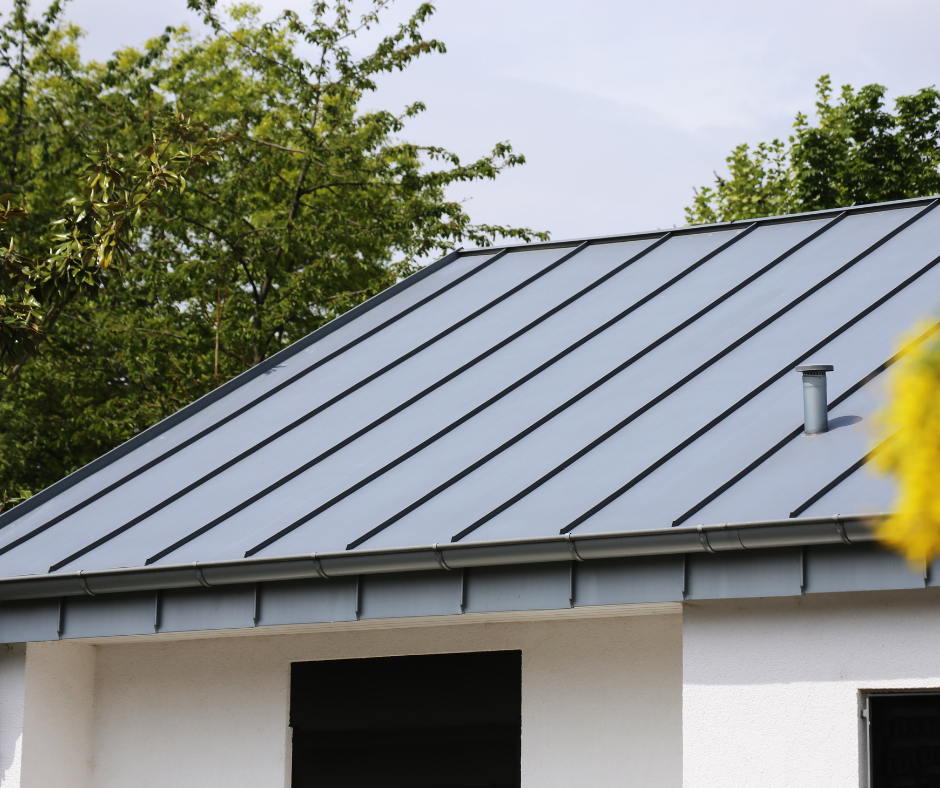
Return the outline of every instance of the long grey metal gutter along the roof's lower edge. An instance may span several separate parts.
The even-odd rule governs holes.
[[[7,577],[0,578],[0,601],[572,560],[856,544],[874,541],[872,526],[887,516],[836,515]]]

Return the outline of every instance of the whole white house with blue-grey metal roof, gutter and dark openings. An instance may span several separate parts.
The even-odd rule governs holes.
[[[0,516],[0,785],[940,784],[936,204],[455,252]]]

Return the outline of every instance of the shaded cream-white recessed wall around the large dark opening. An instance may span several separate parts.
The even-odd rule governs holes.
[[[681,633],[663,614],[98,645],[91,785],[285,785],[291,662],[521,649],[525,788],[678,788]]]

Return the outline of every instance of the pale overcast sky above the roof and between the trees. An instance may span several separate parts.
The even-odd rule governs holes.
[[[398,0],[390,19],[416,6]],[[185,0],[72,0],[67,15],[99,59],[199,26]],[[439,0],[425,34],[447,54],[385,79],[371,103],[424,101],[405,136],[462,158],[501,140],[526,155],[453,193],[476,221],[556,239],[648,230],[683,224],[734,145],[787,135],[820,74],[895,96],[940,82],[938,30],[937,0]]]

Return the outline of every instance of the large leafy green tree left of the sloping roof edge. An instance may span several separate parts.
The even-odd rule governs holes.
[[[58,2],[31,19],[17,0],[0,29],[0,193],[28,212],[8,226],[19,254],[48,256],[89,151],[129,162],[161,119],[192,110],[225,140],[185,189],[154,197],[158,210],[127,234],[131,264],[102,269],[70,299],[0,399],[10,495],[80,467],[429,256],[546,237],[474,224],[448,197],[522,164],[508,144],[462,163],[403,141],[420,102],[360,108],[378,76],[444,52],[421,35],[430,5],[355,57],[351,43],[387,0],[356,20],[336,0],[314,3],[309,21],[285,12],[265,24],[251,6],[222,15],[211,0],[190,4],[205,20],[198,34],[168,30],[106,63],[81,58]]]

